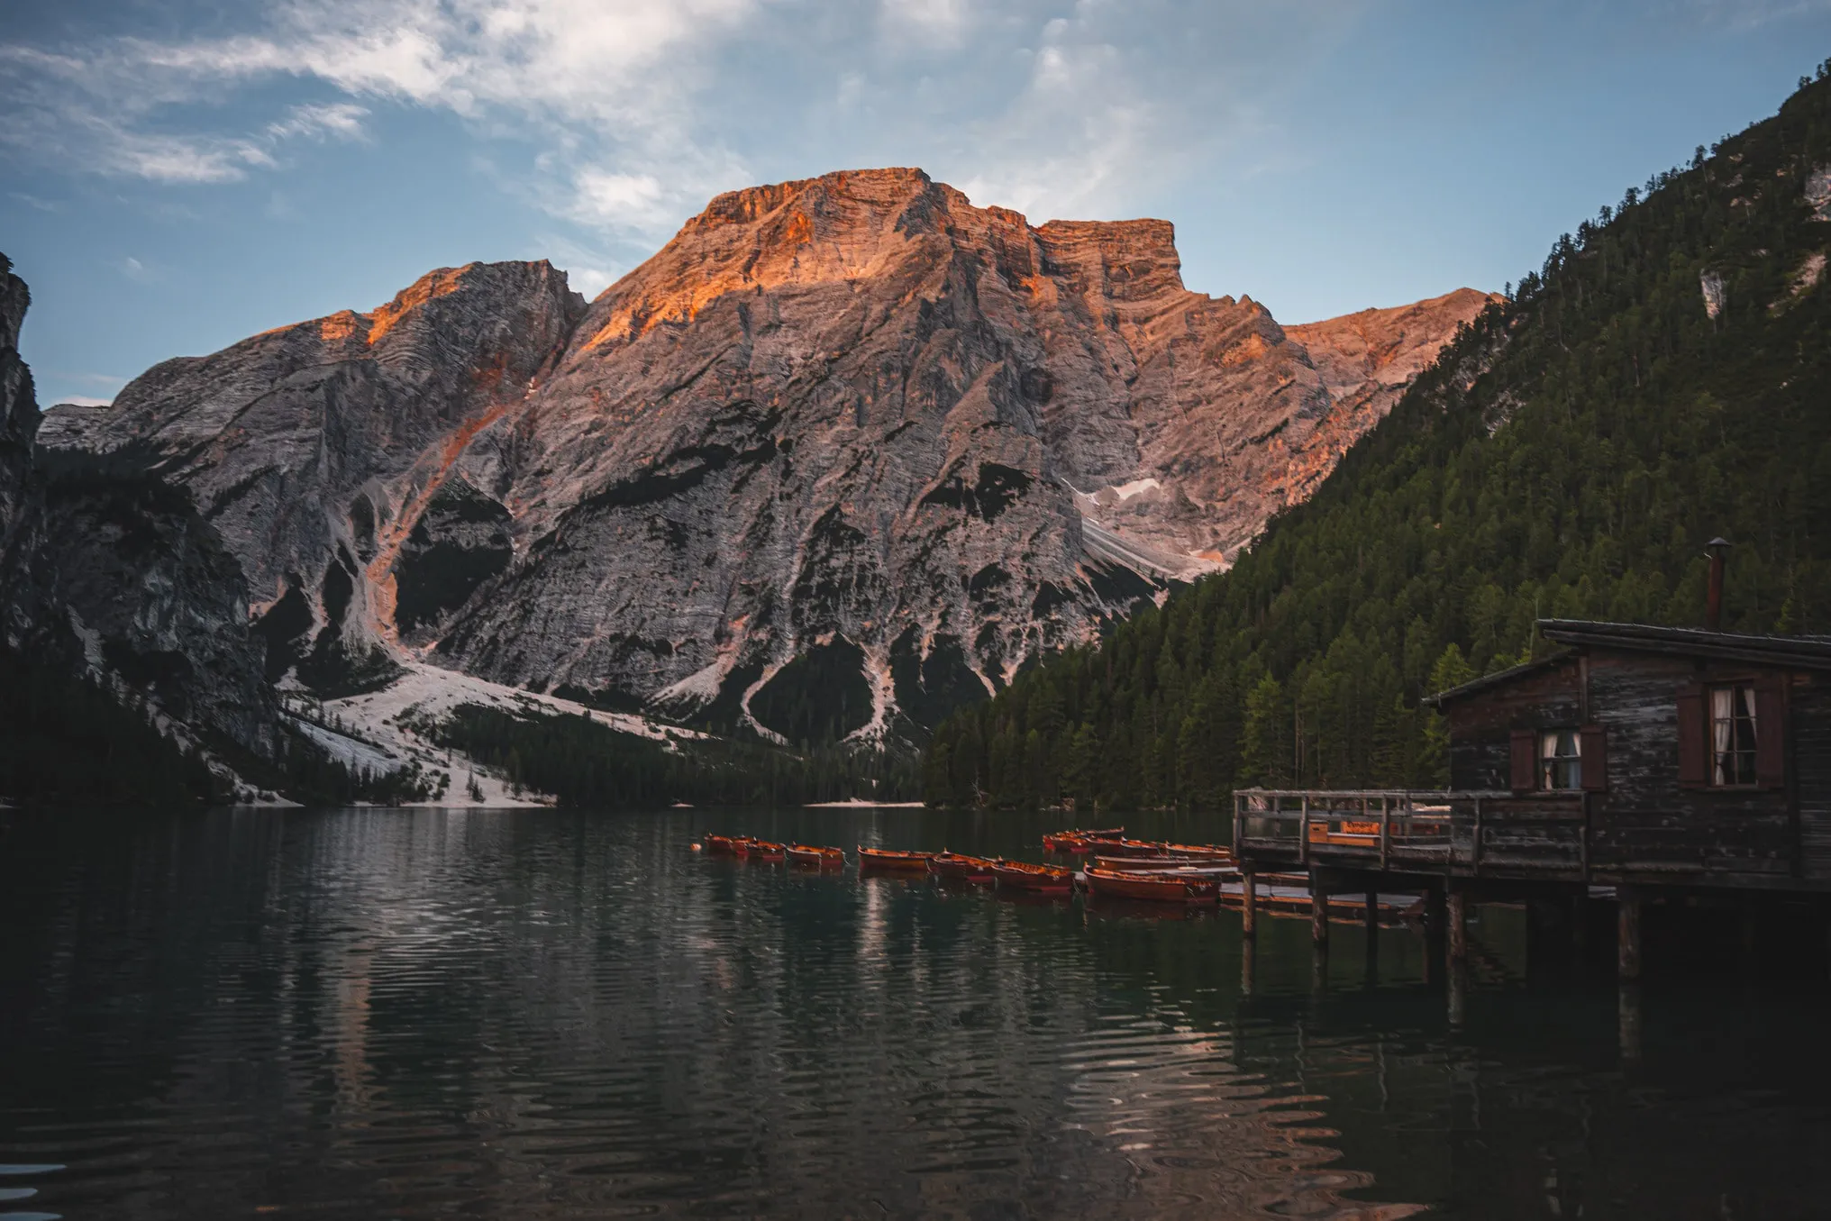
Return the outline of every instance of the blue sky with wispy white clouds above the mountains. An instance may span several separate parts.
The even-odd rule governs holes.
[[[0,253],[38,401],[549,258],[595,297],[720,190],[917,165],[1161,216],[1284,322],[1500,291],[1772,113],[1831,0],[0,0]]]

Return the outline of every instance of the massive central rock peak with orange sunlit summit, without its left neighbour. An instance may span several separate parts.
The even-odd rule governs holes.
[[[1481,304],[1324,324],[1318,368],[1186,291],[1165,222],[1033,227],[919,170],[732,192],[505,423],[525,547],[439,650],[787,738],[802,692],[930,718],[1223,562]]]

